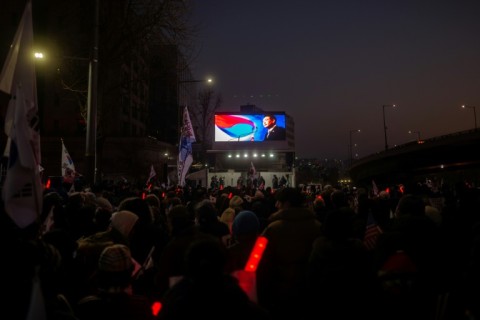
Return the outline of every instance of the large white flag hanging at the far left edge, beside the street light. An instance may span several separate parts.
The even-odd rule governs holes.
[[[0,75],[0,90],[12,95],[5,118],[10,147],[2,189],[5,211],[20,228],[32,224],[42,210],[37,86],[33,61],[32,4],[22,20]]]

